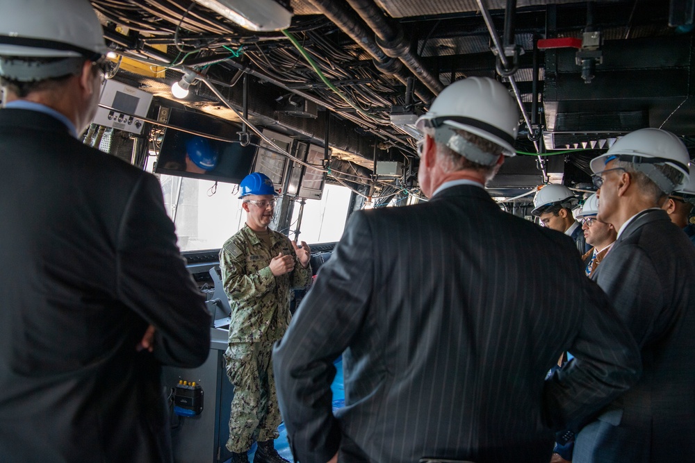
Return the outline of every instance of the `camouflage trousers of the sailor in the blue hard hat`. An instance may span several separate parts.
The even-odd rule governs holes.
[[[244,453],[254,440],[277,439],[282,422],[272,374],[272,342],[229,344],[224,359],[234,385],[227,449]]]

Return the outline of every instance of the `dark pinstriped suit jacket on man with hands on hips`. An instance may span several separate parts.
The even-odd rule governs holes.
[[[275,350],[295,457],[325,463],[343,434],[342,461],[547,463],[549,427],[639,374],[635,342],[582,272],[569,237],[502,212],[480,187],[357,212]],[[567,350],[569,369],[545,382]]]

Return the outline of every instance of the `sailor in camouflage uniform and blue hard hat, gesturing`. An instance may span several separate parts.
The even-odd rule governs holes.
[[[239,185],[246,225],[220,251],[224,291],[231,305],[229,347],[224,354],[234,385],[227,448],[232,462],[247,463],[258,441],[254,463],[286,462],[275,451],[281,423],[270,354],[290,321],[290,289],[311,281],[309,246],[299,247],[270,230],[275,190],[270,178],[254,173]]]

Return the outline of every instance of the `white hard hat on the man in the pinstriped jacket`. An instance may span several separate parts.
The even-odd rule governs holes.
[[[462,129],[502,147],[505,155],[516,153],[519,113],[507,88],[488,77],[468,77],[446,87],[415,123],[426,128]]]

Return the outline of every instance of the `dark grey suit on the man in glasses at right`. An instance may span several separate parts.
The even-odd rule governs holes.
[[[628,224],[594,279],[641,348],[644,375],[577,437],[574,462],[695,459],[695,249],[662,210]]]

